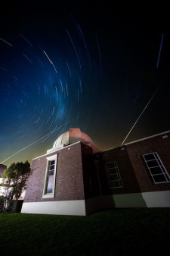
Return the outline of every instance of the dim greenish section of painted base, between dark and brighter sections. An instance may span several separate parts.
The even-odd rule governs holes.
[[[115,207],[147,207],[141,193],[113,194]]]

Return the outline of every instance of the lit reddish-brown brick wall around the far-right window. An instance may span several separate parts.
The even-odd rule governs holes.
[[[165,134],[126,145],[128,156],[142,192],[170,189],[170,182],[153,184],[141,157],[146,153],[157,152],[165,169],[170,174],[170,133],[168,134],[169,137],[166,138],[162,138],[163,135]]]

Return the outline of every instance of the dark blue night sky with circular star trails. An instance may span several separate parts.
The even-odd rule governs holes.
[[[101,150],[118,147],[149,102],[125,143],[168,131],[168,9],[163,1],[1,7],[0,163],[32,163],[69,128]]]

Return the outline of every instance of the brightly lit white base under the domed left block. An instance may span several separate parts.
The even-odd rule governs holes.
[[[23,202],[21,213],[85,216],[85,200]]]

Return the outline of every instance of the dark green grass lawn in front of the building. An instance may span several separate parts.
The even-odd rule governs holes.
[[[0,214],[0,254],[156,255],[169,251],[170,208],[116,209],[91,216]]]

